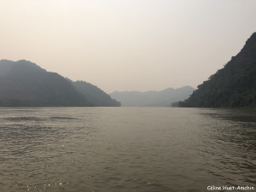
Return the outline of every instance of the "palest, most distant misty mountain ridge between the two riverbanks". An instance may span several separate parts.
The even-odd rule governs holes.
[[[188,98],[193,90],[195,89],[190,86],[184,86],[161,91],[114,91],[110,96],[125,107],[171,107],[172,102]]]

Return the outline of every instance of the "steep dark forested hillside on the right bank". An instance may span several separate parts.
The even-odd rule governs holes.
[[[256,32],[241,52],[198,86],[180,107],[255,108],[256,107]]]

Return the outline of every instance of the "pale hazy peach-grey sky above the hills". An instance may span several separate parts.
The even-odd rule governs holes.
[[[0,0],[0,59],[113,90],[196,87],[256,32],[255,0]]]

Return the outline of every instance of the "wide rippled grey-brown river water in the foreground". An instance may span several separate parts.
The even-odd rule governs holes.
[[[0,108],[0,191],[256,191],[255,183],[255,110]]]

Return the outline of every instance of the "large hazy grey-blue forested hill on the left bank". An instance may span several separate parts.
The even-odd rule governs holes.
[[[98,102],[79,92],[61,75],[49,73],[30,61],[0,61],[0,106],[119,106],[119,102],[94,88],[88,92],[109,99]]]

